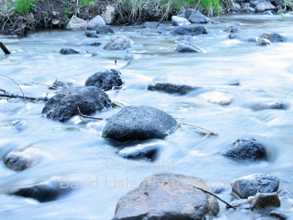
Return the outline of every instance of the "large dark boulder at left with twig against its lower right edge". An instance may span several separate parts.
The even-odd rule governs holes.
[[[66,121],[78,115],[77,106],[84,115],[90,115],[111,106],[106,93],[95,86],[74,87],[56,93],[45,104],[42,114],[47,118]]]

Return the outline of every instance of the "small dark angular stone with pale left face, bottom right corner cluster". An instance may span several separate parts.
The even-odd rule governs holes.
[[[281,206],[281,201],[276,193],[257,193],[255,196],[248,197],[247,201],[251,210]]]

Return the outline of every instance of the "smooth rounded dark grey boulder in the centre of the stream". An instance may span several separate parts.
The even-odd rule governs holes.
[[[120,142],[163,139],[177,128],[177,121],[150,106],[128,106],[109,118],[102,137]]]

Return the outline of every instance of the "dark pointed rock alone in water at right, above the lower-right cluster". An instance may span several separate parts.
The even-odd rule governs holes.
[[[265,148],[251,137],[241,137],[223,152],[222,155],[249,160],[266,160],[267,158]]]

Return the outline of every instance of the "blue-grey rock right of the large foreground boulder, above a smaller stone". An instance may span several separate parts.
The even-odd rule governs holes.
[[[232,191],[242,199],[254,196],[256,193],[275,193],[280,180],[266,174],[253,174],[235,179],[231,183]]]

